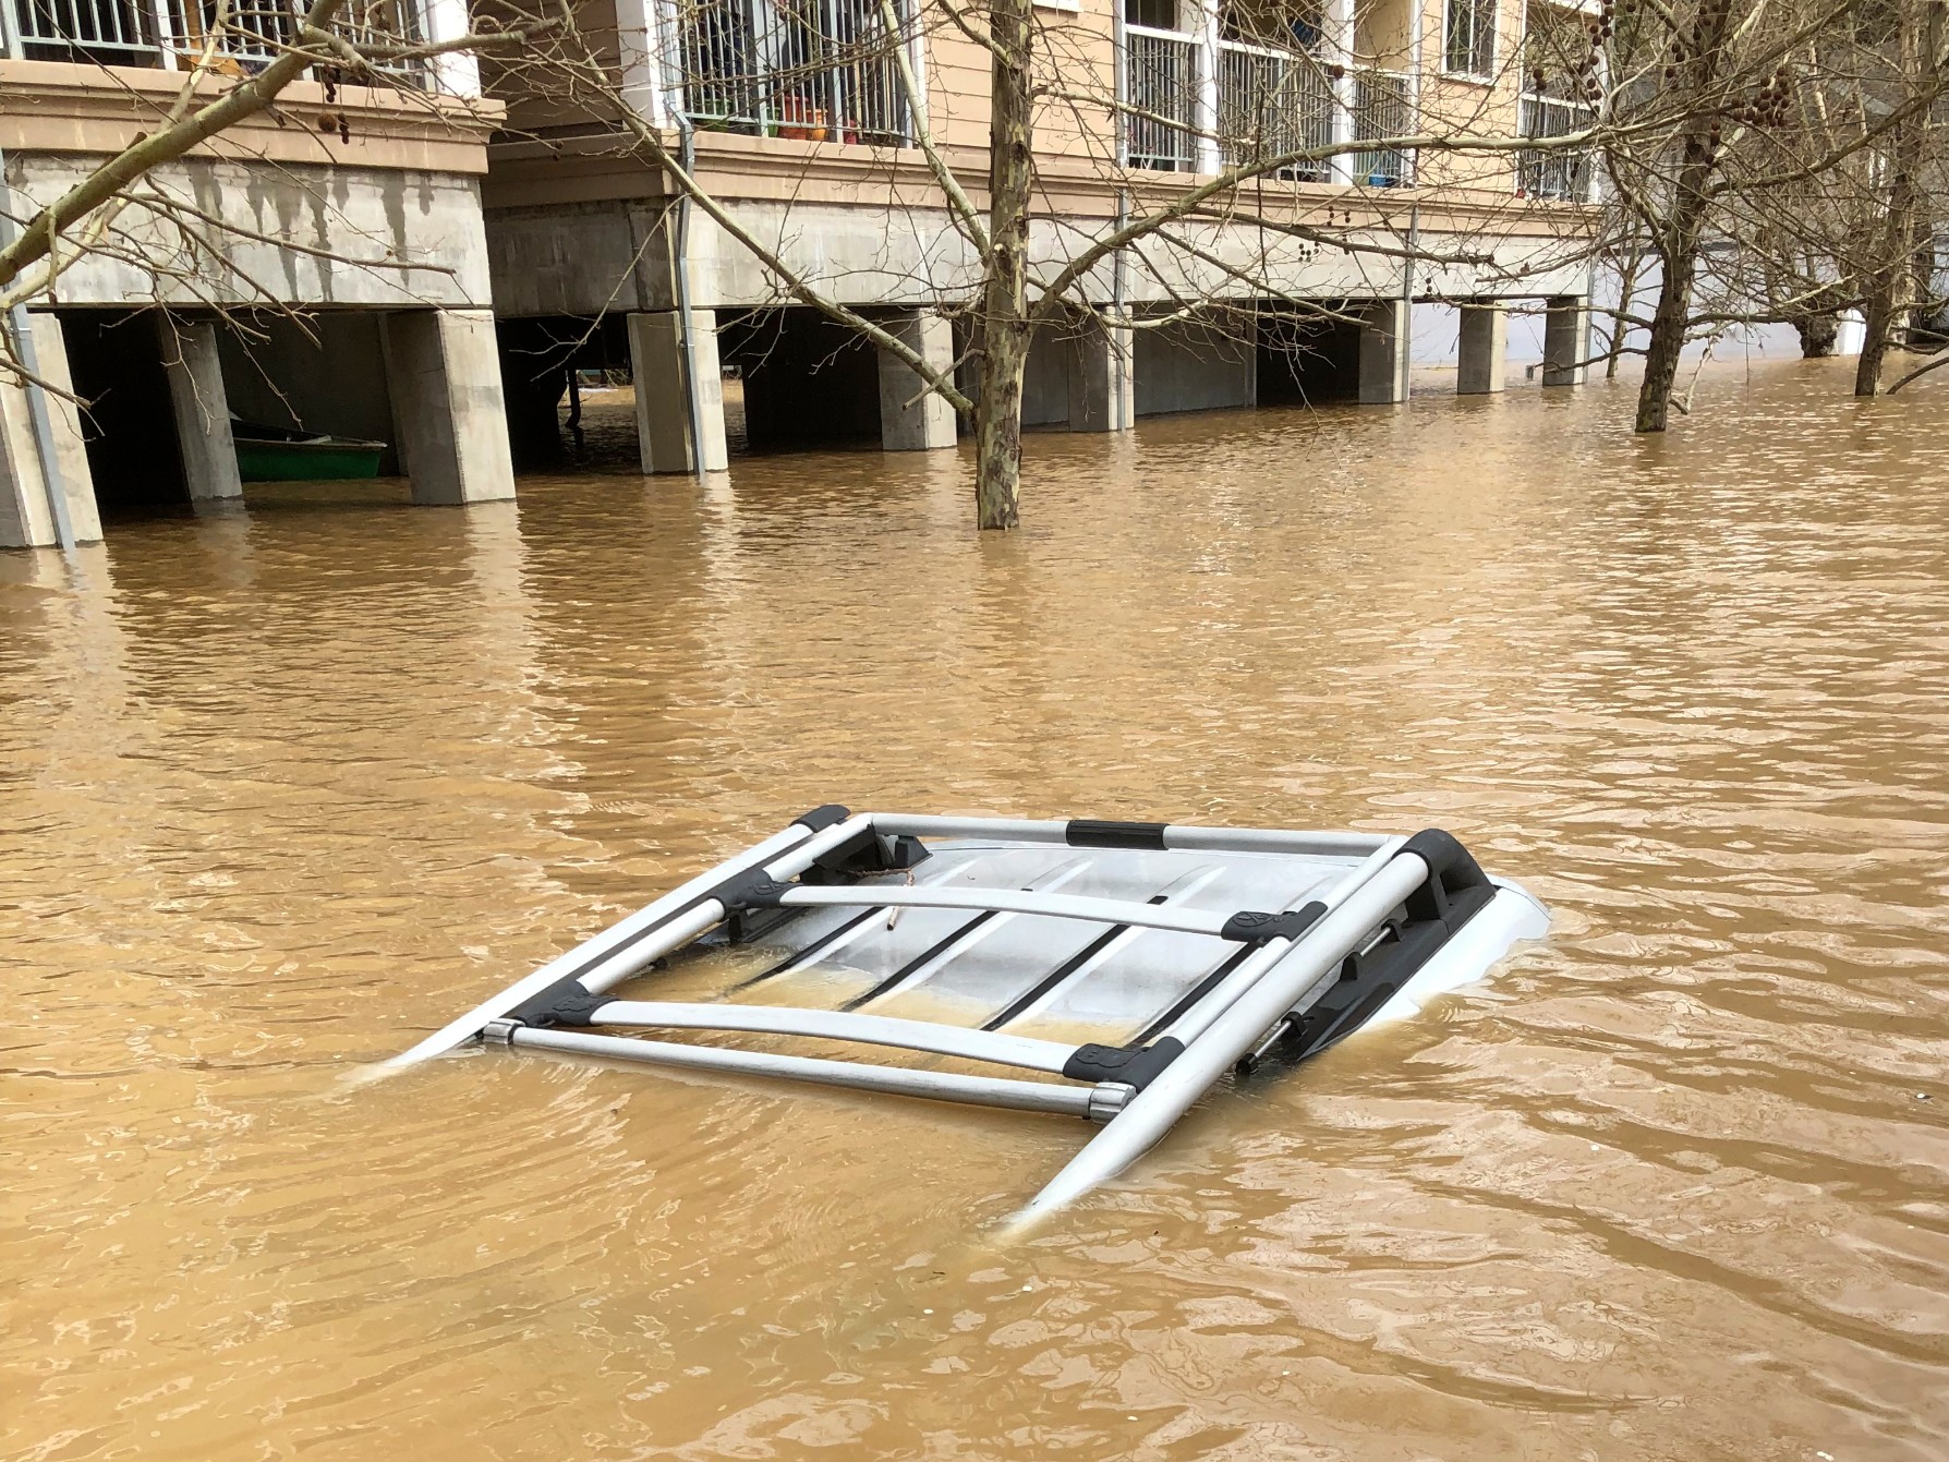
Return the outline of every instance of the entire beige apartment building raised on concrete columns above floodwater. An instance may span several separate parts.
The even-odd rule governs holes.
[[[1462,306],[1460,390],[1503,388],[1510,306],[1548,314],[1544,384],[1579,380],[1588,273],[1563,240],[1588,162],[1388,138],[1577,131],[1573,78],[1530,49],[1581,33],[1581,2],[1039,4],[1043,275],[1226,166],[1341,150],[1091,269],[1037,339],[1025,423],[1123,431],[1160,411],[1399,402],[1413,306],[1431,298]],[[507,14],[476,0],[481,16],[489,4]],[[0,0],[6,211],[31,216],[154,129],[214,14]],[[296,16],[285,0],[224,14],[201,94],[265,64]],[[468,0],[347,14],[405,39],[470,27]],[[361,84],[314,76],[131,189],[25,302],[51,390],[0,386],[0,544],[238,497],[234,421],[378,442],[421,503],[513,497],[509,427],[516,446],[557,444],[587,365],[631,374],[645,472],[725,466],[725,372],[754,446],[953,446],[963,423],[908,366],[809,308],[735,234],[967,372],[978,265],[914,103],[980,207],[978,41],[932,0],[583,0],[577,14],[606,88],[552,88],[546,64],[522,64],[540,49],[497,62],[487,97],[464,53]],[[694,158],[723,224],[678,207],[631,117]]]

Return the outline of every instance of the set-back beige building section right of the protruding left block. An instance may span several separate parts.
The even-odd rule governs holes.
[[[902,68],[871,45],[879,0],[585,0],[579,14],[612,57],[618,101],[670,136],[694,131],[694,175],[739,230],[936,365],[965,353],[974,259],[916,146],[906,76],[980,207],[988,74],[974,41],[926,8],[904,10],[918,23]],[[1045,105],[1037,133],[1031,248],[1045,273],[1128,209],[1251,148],[1417,129],[1549,136],[1588,115],[1569,78],[1530,64],[1526,49],[1553,27],[1581,35],[1575,4],[1060,0],[1037,16],[1045,64],[1060,72],[1047,80],[1068,94]],[[1121,97],[1128,121],[1089,96]],[[631,368],[645,472],[692,470],[700,456],[723,466],[719,366],[743,376],[754,446],[873,435],[887,450],[953,444],[953,413],[916,402],[918,378],[893,355],[875,359],[791,302],[704,211],[680,224],[663,170],[620,140],[624,129],[532,92],[505,99],[509,136],[489,148],[483,199],[516,444],[554,441],[571,363]],[[1255,216],[1191,220],[1089,275],[1082,294],[1095,312],[1066,318],[1031,355],[1025,425],[1121,431],[1158,411],[1399,402],[1413,302],[1431,298],[1462,306],[1460,390],[1503,390],[1512,304],[1548,314],[1544,384],[1575,384],[1588,271],[1563,238],[1588,173],[1561,154],[1372,148],[1267,177],[1249,209],[1234,199],[1218,211]],[[1374,248],[1269,234],[1267,220],[1331,224]],[[1403,257],[1409,236],[1471,261]],[[1187,298],[1208,308],[1187,314]]]

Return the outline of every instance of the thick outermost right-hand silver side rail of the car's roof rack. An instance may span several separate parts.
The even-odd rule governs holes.
[[[1212,1082],[1257,1047],[1259,1037],[1316,984],[1329,979],[1339,969],[1341,959],[1366,938],[1368,930],[1419,889],[1427,877],[1429,866],[1417,854],[1395,854],[1388,867],[1308,930],[1306,943],[1314,949],[1312,955],[1294,959],[1277,975],[1267,975],[1245,990],[1197,1041],[1185,1047],[1177,1060],[1130,1097],[1111,1125],[1015,1216],[1015,1224],[1027,1224],[1074,1203],[1148,1152],[1204,1096]],[[1282,945],[1282,942],[1275,943]],[[1267,945],[1267,951],[1271,949],[1273,943]]]

